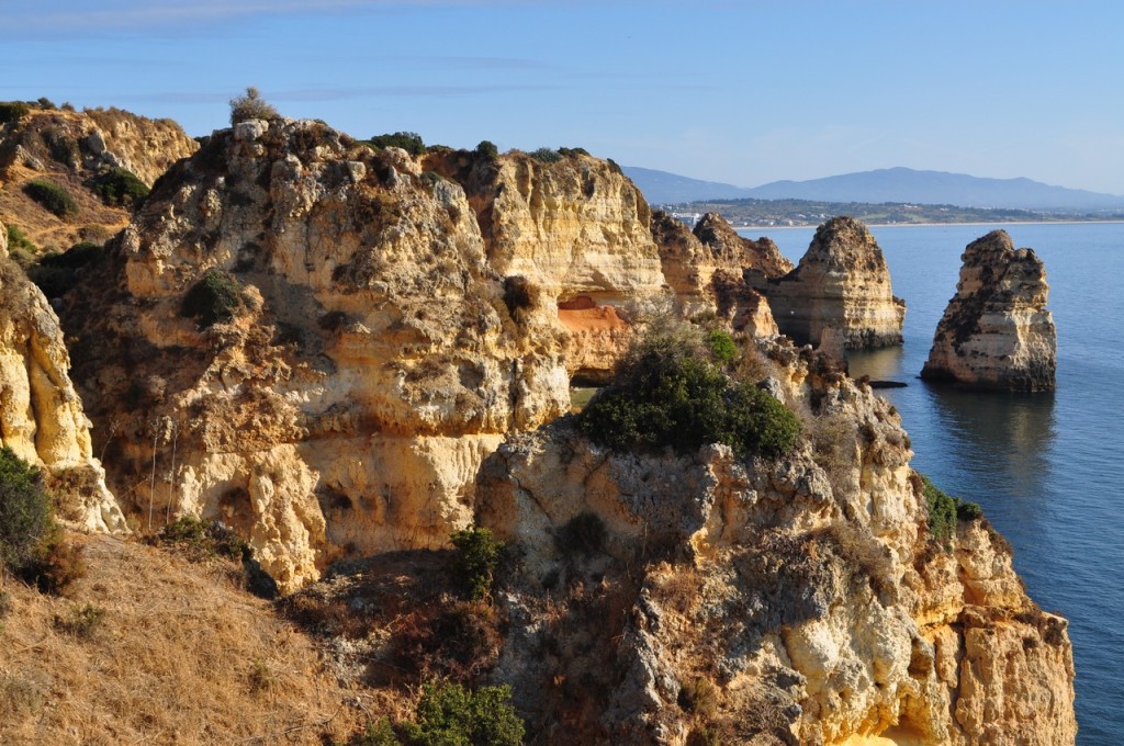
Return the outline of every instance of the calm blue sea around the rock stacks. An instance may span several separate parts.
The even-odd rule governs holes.
[[[1004,228],[1045,263],[1058,327],[1058,391],[973,394],[917,377],[955,293],[960,254]],[[794,262],[813,229],[768,235]],[[1124,743],[1124,224],[871,228],[907,303],[901,348],[853,355],[852,375],[908,383],[901,412],[914,468],[979,502],[1015,549],[1031,597],[1070,620],[1077,742]]]

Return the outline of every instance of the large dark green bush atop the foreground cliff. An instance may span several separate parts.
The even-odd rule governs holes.
[[[780,456],[800,436],[796,416],[752,382],[724,371],[731,351],[722,336],[680,328],[634,345],[614,384],[581,412],[595,443],[617,451],[672,447],[689,453],[708,443],[737,454]]]

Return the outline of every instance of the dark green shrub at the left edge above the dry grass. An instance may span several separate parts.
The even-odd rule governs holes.
[[[0,561],[22,572],[42,558],[55,521],[39,470],[0,448]]]

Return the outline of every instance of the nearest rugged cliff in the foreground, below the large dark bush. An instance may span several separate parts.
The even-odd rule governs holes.
[[[1006,545],[977,519],[945,548],[889,404],[818,355],[760,351],[807,412],[789,457],[618,454],[562,420],[486,462],[478,519],[518,556],[495,676],[532,731],[1072,744],[1067,622],[1025,595]]]

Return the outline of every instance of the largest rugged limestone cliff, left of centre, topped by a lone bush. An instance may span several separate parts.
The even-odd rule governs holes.
[[[114,484],[234,525],[285,590],[443,544],[504,435],[569,409],[556,311],[525,312],[550,297],[505,283],[464,190],[404,151],[241,122],[112,254],[66,316]],[[208,325],[191,293],[215,285],[235,298]]]

